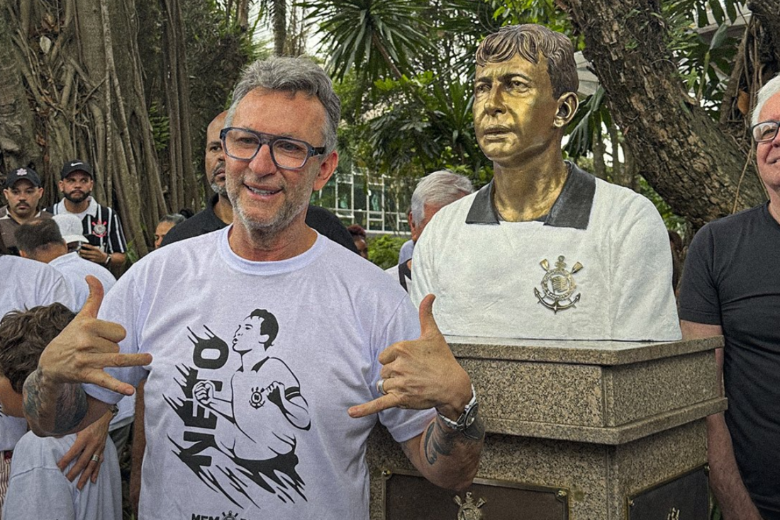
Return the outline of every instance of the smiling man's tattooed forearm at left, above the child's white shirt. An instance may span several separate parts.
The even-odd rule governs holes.
[[[30,429],[41,437],[80,430],[89,409],[80,384],[57,384],[40,368],[24,382],[23,405]]]

